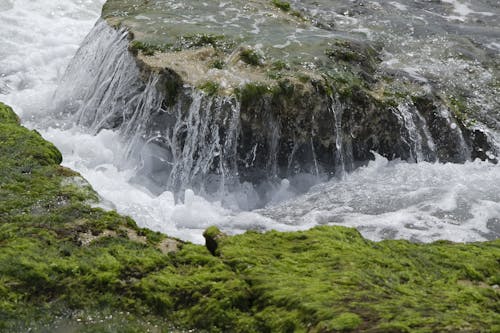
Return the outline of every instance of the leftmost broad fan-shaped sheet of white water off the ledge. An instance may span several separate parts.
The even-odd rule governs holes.
[[[130,119],[144,92],[139,69],[127,52],[127,32],[99,20],[68,66],[54,100],[70,124],[95,134]]]

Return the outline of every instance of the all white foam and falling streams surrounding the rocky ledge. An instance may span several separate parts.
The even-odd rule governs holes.
[[[181,102],[165,104],[168,96],[156,89],[164,83],[161,78],[154,74],[143,77],[145,73],[128,53],[126,32],[116,32],[102,21],[83,42],[84,47],[60,81],[76,44],[83,38],[82,31],[90,30],[102,1],[42,2],[39,11],[32,10],[28,1],[0,6],[1,18],[10,22],[8,26],[0,26],[3,29],[0,41],[12,46],[0,50],[3,59],[0,99],[15,107],[29,126],[55,142],[63,152],[65,165],[81,172],[105,199],[105,204],[131,215],[141,226],[195,242],[203,241],[201,232],[210,225],[218,225],[227,232],[241,232],[341,224],[355,226],[371,239],[407,238],[424,242],[476,241],[500,236],[497,191],[500,167],[480,161],[389,162],[374,153],[375,161],[368,165],[341,179],[316,185],[295,198],[290,182],[283,179],[270,186],[267,207],[241,211],[255,207],[260,199],[253,184],[238,183],[231,188],[237,178],[234,157],[239,103],[230,97],[209,98],[182,87]],[[27,24],[26,17],[39,21],[33,27]],[[352,24],[352,20],[349,22],[345,24]],[[66,25],[72,27],[67,41],[42,38],[48,34],[40,31],[40,27],[65,31]],[[5,29],[14,29],[16,34]],[[32,31],[39,31],[39,38],[17,38]],[[37,44],[40,40],[44,41],[41,45]],[[58,44],[61,40],[64,43]],[[46,52],[46,56],[14,61],[20,54],[36,49]],[[410,60],[415,62],[415,59]],[[407,72],[414,65],[411,61]],[[58,81],[59,89],[52,98]],[[55,112],[47,114],[48,110]],[[348,131],[342,130],[346,126],[342,122],[343,112],[341,105],[332,103],[331,119],[337,128],[337,152],[332,153],[337,154],[339,165],[345,166],[351,153]],[[406,129],[402,135],[412,158],[419,162],[433,161],[436,137],[431,135],[424,117],[411,105],[399,105],[394,112]],[[158,118],[152,118],[153,113],[155,117],[171,119],[170,125],[155,126],[152,119]],[[443,110],[443,118],[446,114],[448,111]],[[221,117],[218,123],[208,121]],[[451,121],[449,125],[453,127]],[[270,137],[274,139],[269,145],[272,158],[267,168],[275,175],[272,152],[277,149],[280,126],[269,125]],[[464,156],[470,154],[460,129],[453,130]],[[247,163],[255,160],[257,148],[253,156],[249,152]],[[318,179],[321,172],[312,142],[311,151],[311,170],[315,173],[311,177]],[[289,165],[293,164],[293,156]],[[216,179],[209,177],[209,173]],[[183,200],[176,200],[174,192],[165,188],[180,191]],[[220,194],[221,188],[231,191],[215,196],[215,201],[203,197]]]

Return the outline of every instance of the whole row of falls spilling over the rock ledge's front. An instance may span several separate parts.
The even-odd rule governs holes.
[[[259,195],[264,199],[259,199],[259,204],[265,204],[280,177],[291,179],[308,172],[319,178],[321,173],[331,172],[332,169],[324,171],[325,166],[334,165],[332,174],[343,179],[354,169],[354,150],[359,155],[361,148],[353,148],[357,126],[353,115],[357,110],[349,101],[341,102],[338,96],[330,96],[326,104],[321,104],[318,119],[313,115],[310,120],[314,124],[331,121],[328,131],[333,146],[330,138],[323,140],[328,142],[321,143],[323,146],[314,142],[314,124],[305,139],[298,138],[299,132],[290,131],[285,118],[273,114],[267,99],[258,101],[255,114],[251,114],[260,117],[260,128],[264,129],[263,133],[255,133],[254,124],[248,121],[254,118],[246,115],[247,123],[243,125],[241,103],[235,96],[207,95],[189,84],[179,84],[176,96],[167,96],[172,92],[165,87],[177,84],[175,75],[143,68],[129,52],[128,44],[127,31],[115,30],[105,21],[98,21],[55,94],[55,114],[66,126],[77,124],[93,134],[103,129],[116,130],[125,145],[114,163],[135,167],[137,175],[132,180],[146,184],[153,193],[169,190],[182,197],[191,189],[224,201],[231,196],[228,193],[260,186],[256,191],[262,191]],[[401,103],[392,113],[401,128],[400,138],[393,142],[403,142],[408,159],[435,161],[436,133],[429,129],[418,108],[410,102]],[[470,150],[460,128],[456,125],[453,128],[447,110],[440,113],[440,119],[445,119],[457,136],[460,146],[457,159],[468,159]],[[252,136],[249,140],[243,138],[243,126],[247,126],[245,133]],[[289,147],[284,149],[286,144]],[[401,153],[404,155],[405,152]],[[242,184],[245,181],[252,184]],[[289,186],[293,188],[293,180],[285,185],[287,191]]]

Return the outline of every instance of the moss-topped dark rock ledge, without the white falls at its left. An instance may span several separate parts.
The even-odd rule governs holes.
[[[325,3],[305,7],[316,5],[322,8]],[[195,118],[210,114],[204,126],[218,128],[216,141],[236,142],[236,148],[211,158],[207,172],[214,178],[221,173],[238,175],[237,181],[253,184],[301,173],[331,176],[349,171],[370,160],[371,151],[409,161],[494,160],[487,135],[473,128],[472,117],[465,119],[470,112],[449,102],[456,98],[444,98],[421,82],[398,77],[402,73],[389,73],[381,66],[383,45],[356,34],[332,34],[332,27],[313,18],[290,15],[294,7],[304,6],[269,0],[223,5],[182,1],[177,6],[108,0],[102,17],[130,31],[130,49],[141,75],[160,74],[160,81],[174,82],[178,88],[172,93],[172,86],[158,85],[166,112],[148,110],[147,119],[134,117],[137,124],[124,126],[140,129],[141,137],[173,159],[172,151],[184,150],[186,142],[184,132],[175,128],[193,116],[186,116],[193,112],[190,106],[199,107]],[[182,10],[189,12],[187,18],[178,15]],[[236,12],[242,15],[228,24],[233,15],[228,13]],[[199,103],[193,98],[197,90],[205,92]],[[219,112],[216,108],[221,114],[213,115]],[[229,128],[224,121],[234,109],[239,123]],[[117,119],[113,126],[122,126],[123,118]],[[195,127],[187,131],[196,132]],[[172,137],[155,140],[158,133]],[[207,135],[190,142],[202,146],[214,140]],[[171,147],[172,142],[180,147]],[[193,153],[193,164],[210,159],[201,156]],[[221,171],[221,165],[227,169]],[[165,169],[167,178],[177,177],[169,174],[168,166]],[[188,184],[169,179],[167,188],[201,188],[192,175],[195,169],[182,170]]]

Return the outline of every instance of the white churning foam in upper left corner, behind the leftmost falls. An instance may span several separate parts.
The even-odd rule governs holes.
[[[2,0],[0,99],[21,116],[45,110],[103,0]],[[2,88],[3,87],[3,88]]]

